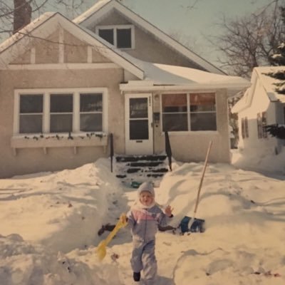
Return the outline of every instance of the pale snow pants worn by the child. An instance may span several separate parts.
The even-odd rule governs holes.
[[[157,261],[155,258],[155,240],[150,242],[133,241],[133,253],[130,264],[134,272],[143,273],[146,285],[154,285],[157,274]]]

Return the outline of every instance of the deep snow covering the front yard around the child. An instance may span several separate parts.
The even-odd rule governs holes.
[[[76,170],[0,180],[1,285],[130,285],[131,236],[121,229],[98,261],[102,224],[137,197],[102,159]],[[176,227],[192,216],[203,163],[175,162],[155,188]],[[197,217],[206,231],[157,233],[157,285],[285,284],[285,176],[209,164]],[[118,254],[118,258],[115,258]]]

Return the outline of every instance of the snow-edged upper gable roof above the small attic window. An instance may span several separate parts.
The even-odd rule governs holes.
[[[138,14],[135,14],[133,11],[128,9],[126,6],[124,6],[117,0],[98,1],[90,9],[88,9],[86,12],[84,12],[76,19],[74,19],[73,22],[87,27],[90,24],[98,22],[100,19],[102,19],[103,16],[108,14],[113,9],[120,12],[120,14],[123,14],[127,19],[130,19],[130,21],[132,21],[134,24],[137,24],[138,26],[144,28],[149,33],[152,33],[152,35],[154,35],[163,43],[167,44],[167,46],[170,46],[171,48],[175,49],[176,51],[184,55],[186,58],[188,58],[190,61],[193,61],[198,66],[204,68],[206,71],[218,74],[225,74],[219,68],[212,65],[212,63],[209,63],[208,61],[206,61],[204,58],[201,58],[193,51],[190,51],[189,48],[186,48],[181,43],[175,41],[166,33],[162,32],[159,28],[153,26],[145,19],[142,19],[142,17],[140,17]]]

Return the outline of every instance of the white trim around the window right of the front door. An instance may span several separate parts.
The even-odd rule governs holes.
[[[184,93],[181,93],[181,92],[169,92],[171,94],[186,94],[186,98],[187,98],[187,123],[188,123],[188,128],[190,128],[190,125],[191,125],[191,119],[190,119],[190,94],[192,93],[201,93],[201,94],[204,94],[204,93],[214,93],[214,101],[215,101],[215,105],[216,105],[216,110],[215,111],[204,111],[204,112],[197,112],[197,113],[216,113],[216,123],[217,123],[217,91],[215,90],[205,90],[205,91],[201,91],[201,92],[196,92],[196,91],[193,91],[193,92],[184,92]],[[162,130],[162,115],[163,115],[163,111],[162,111],[162,96],[164,94],[169,94],[168,92],[165,92],[165,93],[160,93],[160,114],[161,114],[161,120],[160,120],[160,129]],[[218,127],[218,124],[217,124],[217,127]],[[164,135],[164,131],[162,130],[162,135]],[[192,133],[192,134],[204,134],[204,133],[218,133],[218,129],[217,130],[173,130],[173,131],[168,131],[168,133],[170,135],[186,135],[186,134],[189,134],[189,133]]]

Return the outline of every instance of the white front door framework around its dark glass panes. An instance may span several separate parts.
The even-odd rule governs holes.
[[[147,100],[147,117],[130,118],[130,99],[145,98]],[[147,138],[131,139],[130,123],[135,121],[142,122],[147,120],[145,131],[148,130]],[[138,135],[138,133],[137,133]],[[152,94],[151,93],[132,93],[125,94],[125,154],[126,155],[152,155],[153,154],[153,128],[152,128]]]

